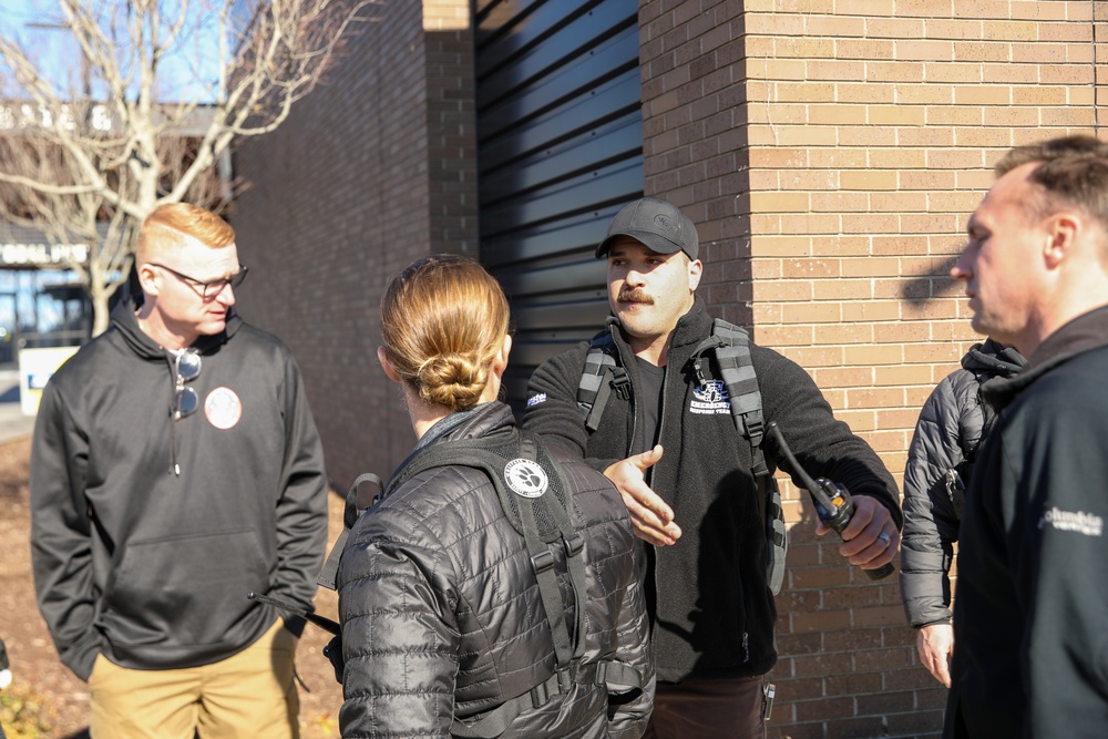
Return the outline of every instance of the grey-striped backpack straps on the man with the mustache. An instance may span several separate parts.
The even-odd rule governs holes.
[[[622,399],[630,397],[630,379],[627,370],[618,365],[618,352],[612,338],[612,326],[593,337],[585,355],[585,366],[577,383],[577,407],[589,433],[596,431],[604,415],[604,407],[615,392]],[[789,551],[789,536],[784,528],[784,511],[777,480],[769,473],[766,455],[761,449],[765,433],[762,420],[761,391],[750,360],[750,337],[745,330],[719,318],[711,325],[711,336],[700,342],[693,352],[693,367],[701,384],[701,372],[706,355],[715,357],[726,399],[731,409],[731,419],[739,434],[750,444],[751,473],[766,511],[766,582],[777,595],[784,579],[784,561]]]

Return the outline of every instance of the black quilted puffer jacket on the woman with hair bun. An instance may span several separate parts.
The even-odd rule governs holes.
[[[514,427],[499,402],[468,415],[443,438],[510,434]],[[502,736],[639,737],[654,673],[630,521],[605,478],[581,462],[556,463],[572,490],[571,519],[585,536],[583,661],[627,663],[647,689],[613,706],[609,720],[605,689],[574,685],[525,710]],[[564,551],[552,550],[564,572]],[[572,603],[564,577],[562,587],[563,601]],[[484,714],[554,674],[554,644],[526,544],[481,470],[423,471],[365,513],[343,552],[338,588],[343,737],[449,737],[454,716]],[[573,623],[572,609],[566,620]]]

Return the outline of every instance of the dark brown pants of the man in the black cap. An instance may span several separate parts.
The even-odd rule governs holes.
[[[643,739],[765,739],[762,678],[658,682]]]

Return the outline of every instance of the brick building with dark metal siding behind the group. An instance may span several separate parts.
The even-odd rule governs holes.
[[[388,277],[479,257],[517,322],[510,387],[606,315],[592,258],[639,194],[699,226],[711,309],[796,359],[900,476],[976,337],[947,277],[1013,145],[1108,125],[1108,2],[388,0],[329,83],[243,146],[243,314],[291,346],[345,489],[410,451],[377,367]],[[895,582],[793,524],[771,736],[927,736]]]

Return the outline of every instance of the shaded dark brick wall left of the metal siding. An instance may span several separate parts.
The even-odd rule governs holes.
[[[280,336],[307,379],[328,473],[387,476],[414,435],[377,363],[390,275],[476,252],[472,37],[442,0],[389,2],[288,122],[235,156],[233,224],[250,267],[243,316]]]

